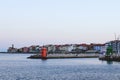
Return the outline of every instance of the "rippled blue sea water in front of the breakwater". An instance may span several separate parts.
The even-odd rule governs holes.
[[[0,54],[0,80],[120,80],[120,63],[97,58],[27,59]]]

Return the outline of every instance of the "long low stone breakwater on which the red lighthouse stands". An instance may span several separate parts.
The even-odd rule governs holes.
[[[46,59],[57,58],[98,58],[99,54],[47,54]],[[42,59],[41,55],[31,55],[31,59]]]

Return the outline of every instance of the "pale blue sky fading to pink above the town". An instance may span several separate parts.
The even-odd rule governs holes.
[[[120,35],[120,0],[0,0],[0,51],[12,44],[105,43]]]

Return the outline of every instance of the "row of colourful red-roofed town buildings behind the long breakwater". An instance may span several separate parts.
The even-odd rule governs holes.
[[[87,51],[93,51],[100,53],[104,51],[105,44],[48,44],[48,45],[31,45],[24,46],[21,48],[16,48],[14,44],[11,47],[8,47],[8,53],[40,53],[42,48],[46,48],[48,53],[85,53]]]

